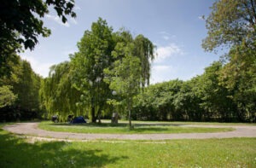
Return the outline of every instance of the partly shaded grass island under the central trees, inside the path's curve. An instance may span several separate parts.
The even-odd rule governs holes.
[[[174,133],[205,133],[205,132],[221,132],[231,131],[232,128],[203,128],[203,127],[180,127],[173,124],[143,124],[135,123],[134,129],[129,130],[125,123],[111,125],[109,123],[98,124],[55,124],[52,122],[42,122],[39,128],[43,130],[74,132],[74,133],[103,133],[103,134],[174,134]]]

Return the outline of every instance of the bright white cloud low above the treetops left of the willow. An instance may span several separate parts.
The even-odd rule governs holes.
[[[34,72],[40,74],[41,76],[48,77],[49,74],[49,67],[51,67],[52,65],[54,65],[53,63],[43,63],[43,62],[39,62],[38,60],[36,60],[34,57],[32,56],[26,56],[26,55],[21,55],[21,58],[23,60],[29,61],[30,65],[33,69]]]

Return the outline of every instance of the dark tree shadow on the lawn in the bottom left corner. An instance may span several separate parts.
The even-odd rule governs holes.
[[[32,144],[0,129],[0,167],[102,167],[119,159],[128,157],[112,157],[73,142]]]

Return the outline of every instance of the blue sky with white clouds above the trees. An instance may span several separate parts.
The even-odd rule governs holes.
[[[54,10],[44,18],[44,26],[51,29],[49,38],[39,38],[32,51],[21,57],[43,77],[49,67],[68,61],[77,51],[77,43],[85,30],[99,17],[107,20],[113,31],[125,27],[133,36],[143,34],[156,46],[152,63],[151,84],[172,79],[188,80],[204,72],[204,68],[219,55],[206,53],[201,41],[207,36],[202,15],[210,14],[212,0],[76,0],[76,19],[61,23]]]

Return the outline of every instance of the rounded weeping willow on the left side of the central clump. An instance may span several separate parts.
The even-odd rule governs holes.
[[[41,102],[49,116],[59,115],[61,121],[70,114],[84,115],[87,107],[80,101],[84,96],[72,86],[70,72],[67,61],[50,67],[49,77],[44,78],[40,89]]]

